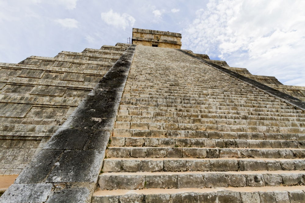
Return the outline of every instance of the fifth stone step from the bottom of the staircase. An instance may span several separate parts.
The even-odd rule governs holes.
[[[305,141],[110,137],[111,147],[305,148]]]

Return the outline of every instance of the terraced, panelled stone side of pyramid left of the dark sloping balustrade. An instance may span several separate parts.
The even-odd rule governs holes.
[[[0,63],[0,175],[21,172],[128,46]]]

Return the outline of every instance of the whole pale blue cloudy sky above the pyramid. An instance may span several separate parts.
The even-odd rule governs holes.
[[[182,49],[305,86],[304,0],[0,0],[0,62],[182,34]]]

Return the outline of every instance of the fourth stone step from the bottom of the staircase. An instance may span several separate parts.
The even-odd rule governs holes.
[[[108,147],[107,158],[305,158],[305,149]]]

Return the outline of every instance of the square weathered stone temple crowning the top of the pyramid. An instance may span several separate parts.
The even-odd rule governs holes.
[[[181,34],[132,28],[132,44],[150,47],[181,48]]]

